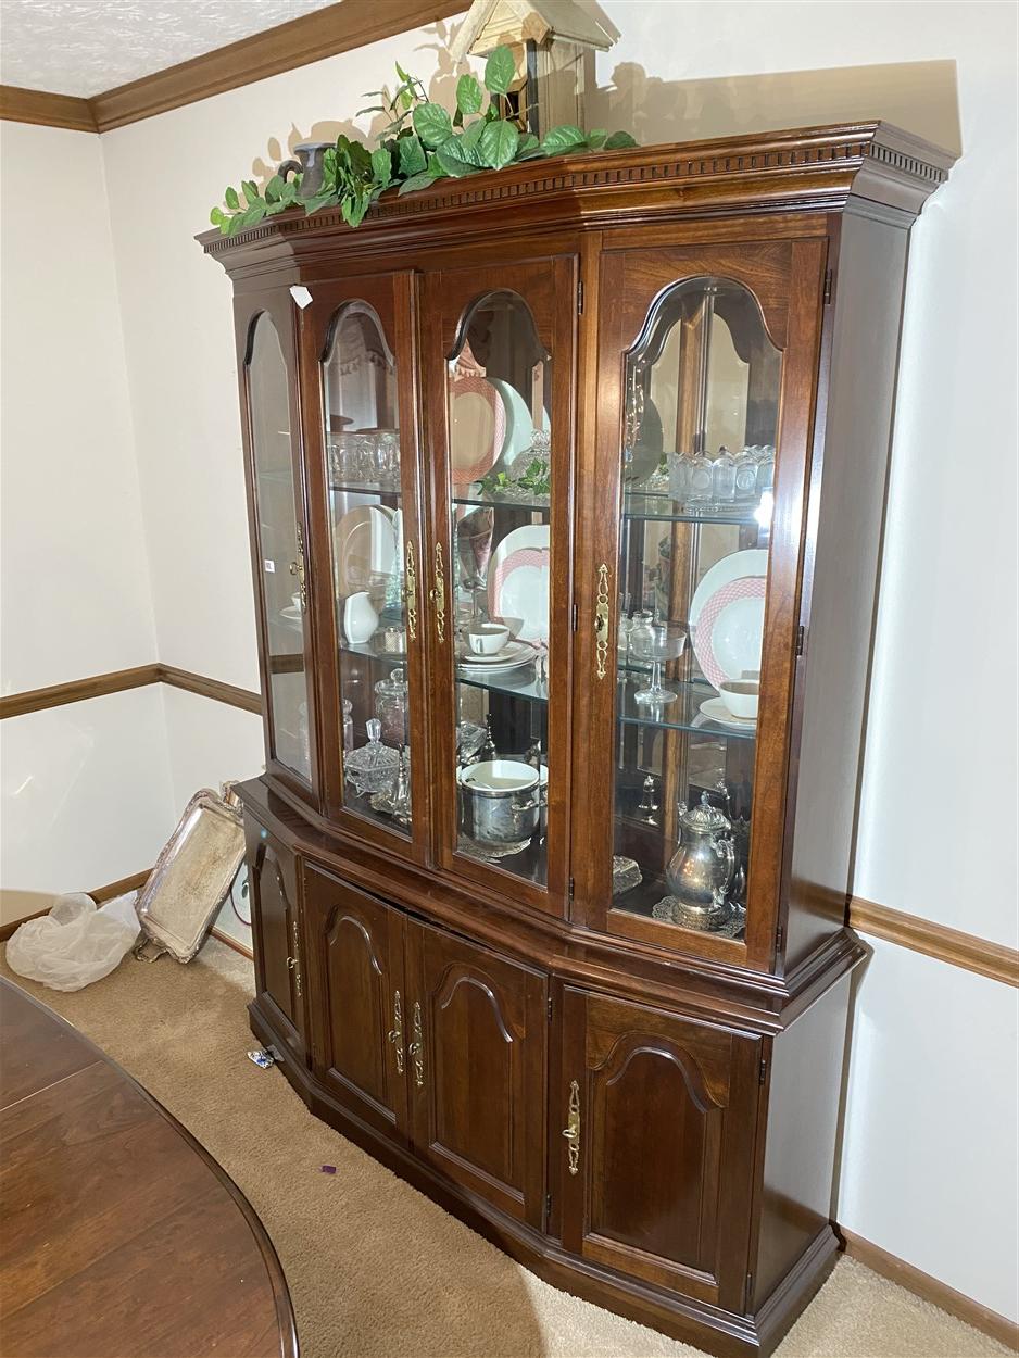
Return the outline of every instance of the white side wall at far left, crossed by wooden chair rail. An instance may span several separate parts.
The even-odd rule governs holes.
[[[98,137],[0,124],[0,689],[156,659]],[[168,834],[158,690],[3,722],[0,922],[149,866]]]

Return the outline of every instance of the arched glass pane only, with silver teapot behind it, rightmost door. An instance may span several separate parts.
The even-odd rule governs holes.
[[[613,907],[742,938],[781,354],[750,292],[666,289],[626,356]]]

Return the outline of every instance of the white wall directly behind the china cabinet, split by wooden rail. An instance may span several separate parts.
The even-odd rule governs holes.
[[[856,891],[1014,942],[1015,11],[605,10],[622,38],[599,58],[592,124],[651,143],[878,115],[962,139],[913,239]],[[230,285],[192,236],[227,182],[334,133],[323,120],[351,118],[394,60],[428,76],[433,42],[408,34],[102,139],[166,663],[257,684]],[[255,718],[186,695],[164,713],[175,812],[194,781],[261,766]],[[1015,1028],[1015,991],[878,945],[840,1200],[848,1229],[1012,1317]]]

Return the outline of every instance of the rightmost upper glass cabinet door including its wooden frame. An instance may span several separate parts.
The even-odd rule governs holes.
[[[592,581],[594,687],[614,679],[609,792],[594,792],[611,864],[588,915],[734,960],[754,911],[777,907],[806,447],[785,410],[791,247],[762,249],[617,255],[602,276],[620,299],[599,350],[618,373],[598,433],[615,527]]]

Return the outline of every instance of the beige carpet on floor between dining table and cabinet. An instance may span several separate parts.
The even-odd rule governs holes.
[[[304,1358],[694,1354],[539,1282],[312,1118],[279,1071],[247,1061],[251,968],[223,944],[212,940],[187,967],[128,957],[71,995],[12,979],[120,1061],[247,1194],[283,1260]],[[221,1353],[230,1358],[228,1339]],[[781,1358],[1005,1353],[849,1259],[779,1348]]]

